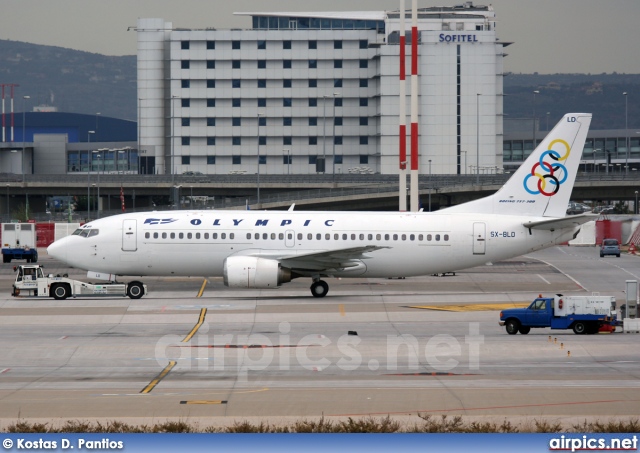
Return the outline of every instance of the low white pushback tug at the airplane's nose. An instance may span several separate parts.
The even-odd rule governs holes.
[[[147,294],[147,286],[135,281],[128,284],[94,285],[73,280],[67,276],[44,275],[42,266],[37,264],[17,266],[15,270],[17,271],[16,280],[11,292],[14,297],[22,295],[62,300],[78,296],[129,296],[131,299],[140,299]]]

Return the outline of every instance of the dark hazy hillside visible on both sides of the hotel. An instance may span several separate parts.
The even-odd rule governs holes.
[[[60,111],[136,119],[136,57],[109,57],[61,47],[0,40],[0,83],[17,83],[16,111],[22,96],[31,105],[51,104]],[[533,91],[541,128],[566,112],[593,112],[592,128],[618,129],[625,124],[630,93],[630,129],[640,129],[640,74],[507,74],[504,112],[507,118],[530,118]]]

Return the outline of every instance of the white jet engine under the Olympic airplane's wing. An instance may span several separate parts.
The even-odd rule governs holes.
[[[224,284],[230,288],[277,288],[291,281],[291,269],[271,259],[230,256],[224,260]]]

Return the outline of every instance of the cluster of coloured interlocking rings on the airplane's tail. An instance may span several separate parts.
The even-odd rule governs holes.
[[[554,145],[563,145],[564,154],[553,149]],[[552,197],[560,190],[560,186],[567,180],[567,167],[560,162],[566,162],[571,147],[562,139],[556,139],[549,144],[549,149],[542,153],[540,160],[531,167],[531,173],[524,178],[524,189],[531,195]],[[548,158],[545,161],[545,158]],[[550,162],[549,162],[550,161]],[[537,178],[530,181],[531,178]],[[535,186],[531,189],[531,185]]]

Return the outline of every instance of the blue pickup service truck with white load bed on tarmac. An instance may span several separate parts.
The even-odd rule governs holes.
[[[527,308],[500,312],[500,325],[509,335],[529,333],[531,328],[573,329],[582,334],[598,333],[603,325],[617,325],[616,299],[613,296],[538,297]]]

